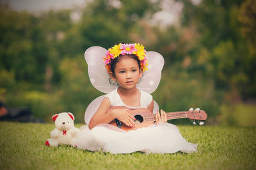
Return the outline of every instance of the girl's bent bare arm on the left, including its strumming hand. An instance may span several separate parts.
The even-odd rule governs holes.
[[[93,115],[89,122],[89,129],[92,129],[99,124],[109,124],[112,120],[117,118],[121,122],[124,122],[128,126],[134,125],[135,118],[125,109],[116,109],[108,111],[111,108],[111,103],[108,97],[105,97],[102,100],[102,103],[99,106],[99,109]]]

